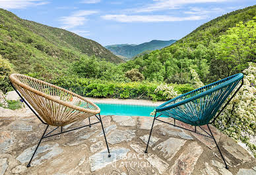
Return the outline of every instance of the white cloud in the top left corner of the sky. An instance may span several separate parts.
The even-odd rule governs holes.
[[[0,8],[3,9],[24,9],[30,6],[46,5],[48,1],[42,0],[0,0]]]

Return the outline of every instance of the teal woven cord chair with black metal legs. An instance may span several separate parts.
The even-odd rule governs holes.
[[[238,89],[236,87],[240,84]],[[201,134],[197,132],[197,126],[203,130],[201,126],[212,124],[214,120],[220,115],[223,109],[228,105],[228,103],[232,100],[232,98],[236,95],[238,90],[243,85],[243,74],[235,74],[233,76],[229,76],[228,78],[224,78],[223,80],[219,80],[218,82],[214,82],[212,84],[208,84],[207,86],[203,86],[202,88],[195,89],[193,91],[189,91],[188,93],[184,93],[183,95],[179,95],[178,97],[167,101],[166,103],[160,105],[156,108],[156,114],[154,115],[154,120],[152,123],[152,128],[150,130],[150,135],[148,137],[148,143],[150,141],[150,136],[152,134],[152,129],[154,126],[154,121],[158,120],[160,122],[164,122],[158,119],[159,116],[164,115],[168,117],[174,118],[174,124],[164,122],[167,124],[171,124],[173,126],[176,125],[176,120],[184,122],[186,124],[191,124],[195,126],[195,130],[189,130],[191,132],[195,132],[197,134]],[[236,89],[235,93],[232,97],[228,100],[228,102],[224,105],[226,99],[230,96],[232,91]],[[222,107],[224,105],[224,107]],[[220,107],[222,109],[219,111]],[[218,112],[219,111],[219,112]],[[218,112],[218,114],[216,114]],[[182,128],[181,126],[177,126]],[[183,128],[188,130],[186,128]],[[207,135],[201,134],[206,137],[210,137],[214,139],[210,127],[208,126],[207,131],[203,130]],[[216,143],[216,140],[214,139]],[[217,143],[216,146],[220,155],[226,164],[226,161],[218,147]],[[146,145],[145,153],[147,153],[148,144]],[[228,169],[228,165],[226,164],[226,168]]]

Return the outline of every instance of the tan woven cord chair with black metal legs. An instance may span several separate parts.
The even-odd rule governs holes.
[[[44,134],[36,147],[36,150],[44,138],[56,136],[65,132],[84,128],[86,126],[90,127],[92,125],[90,123],[90,116],[96,116],[96,118],[99,120],[93,124],[97,124],[99,122],[101,123],[108,148],[108,142],[104,132],[102,118],[100,116],[100,108],[97,105],[91,101],[88,101],[86,98],[77,95],[76,93],[68,91],[67,89],[59,88],[58,86],[32,78],[30,76],[11,74],[9,79],[11,81],[11,85],[15,89],[16,93],[18,93],[22,101],[28,105],[28,107],[32,110],[32,112],[34,112],[34,114],[36,114],[43,124],[47,125],[46,130],[44,131]],[[84,118],[88,118],[88,125],[63,131],[63,126],[78,120],[83,120]],[[46,134],[49,125],[57,127]],[[61,132],[51,134],[59,127],[61,127]],[[30,166],[36,150],[34,151],[30,162],[28,162],[27,167]],[[111,155],[109,148],[108,153],[108,157],[110,157]]]

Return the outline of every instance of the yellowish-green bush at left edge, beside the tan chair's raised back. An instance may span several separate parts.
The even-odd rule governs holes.
[[[9,75],[13,72],[13,68],[7,59],[3,59],[0,55],[0,90],[6,93],[11,89]]]

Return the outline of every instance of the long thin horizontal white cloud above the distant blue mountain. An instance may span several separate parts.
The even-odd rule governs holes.
[[[206,16],[185,16],[175,17],[167,15],[126,15],[126,14],[107,14],[102,16],[105,20],[115,20],[118,22],[173,22],[183,20],[202,20]]]

